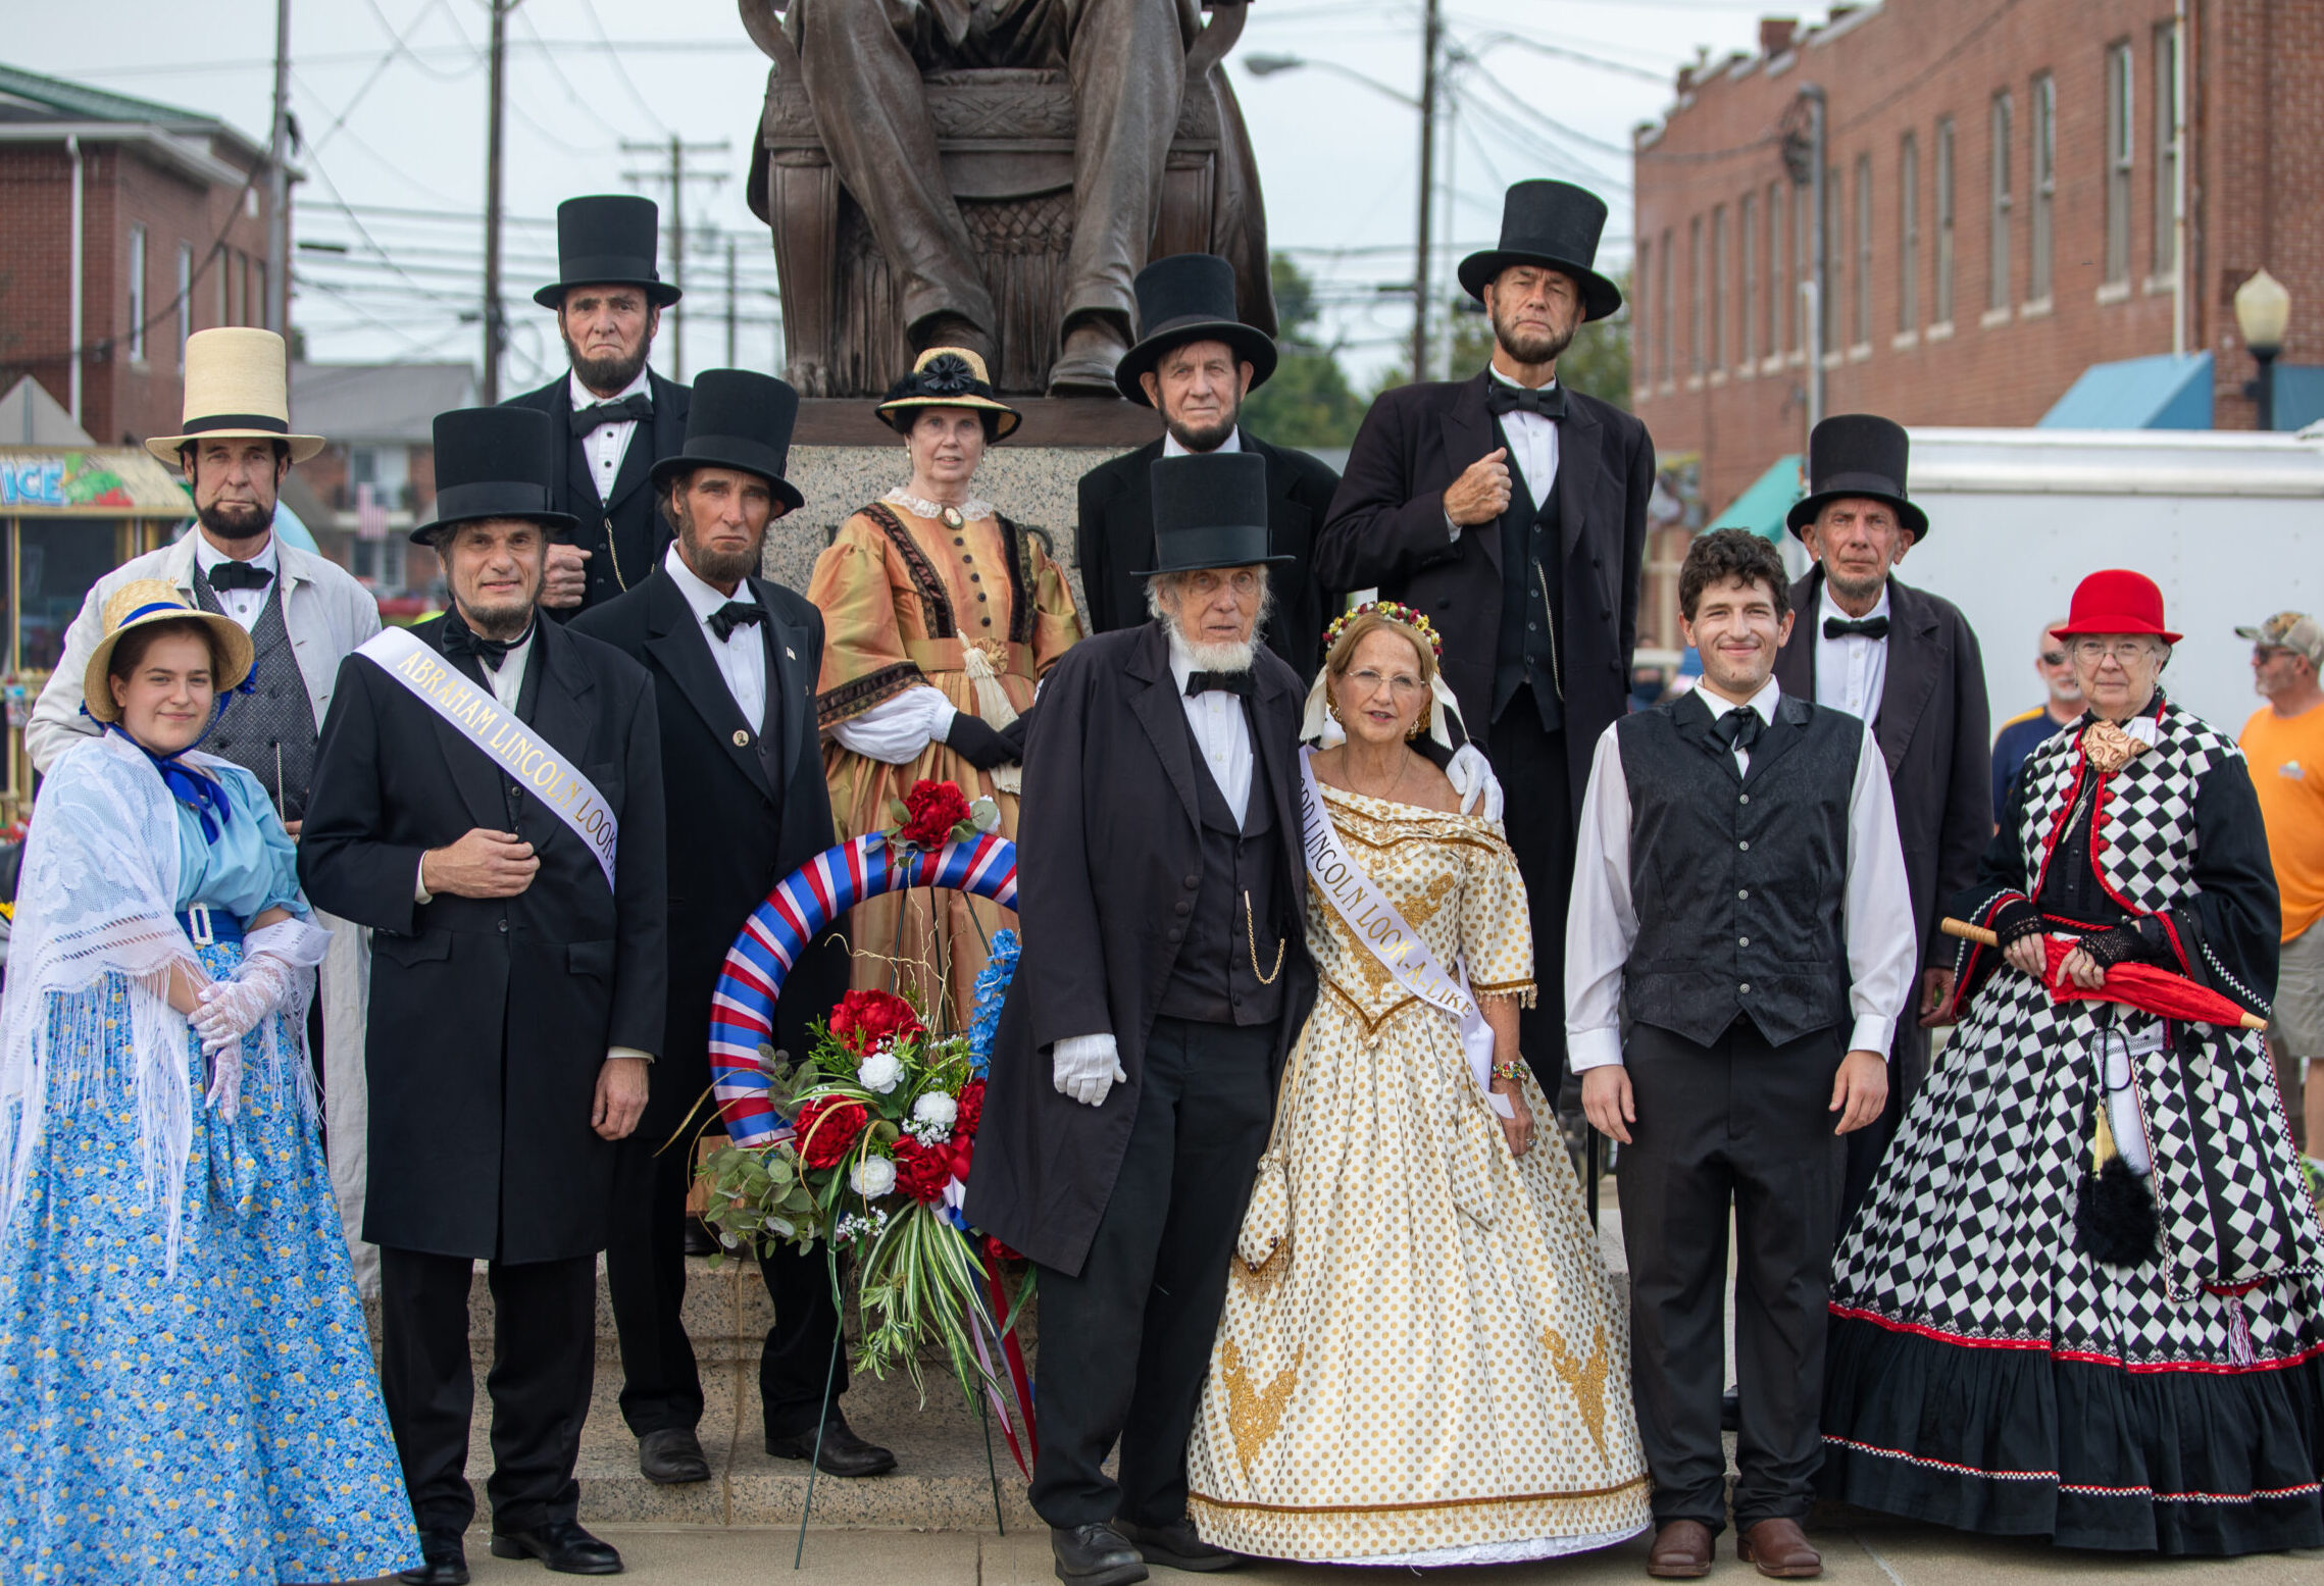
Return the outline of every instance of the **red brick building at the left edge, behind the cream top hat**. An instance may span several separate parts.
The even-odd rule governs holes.
[[[177,430],[188,334],[265,325],[265,149],[214,116],[0,65],[0,390],[100,444]]]

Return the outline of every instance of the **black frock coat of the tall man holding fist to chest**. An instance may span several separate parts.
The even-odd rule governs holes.
[[[1315,541],[1315,576],[1329,590],[1376,587],[1427,613],[1443,639],[1446,685],[1462,724],[1485,741],[1494,648],[1501,636],[1501,532],[1483,522],[1446,529],[1446,488],[1499,448],[1478,372],[1455,383],[1380,392],[1355,434],[1348,476]],[[1515,474],[1515,469],[1511,469]],[[1629,659],[1638,648],[1638,578],[1655,441],[1622,409],[1566,392],[1557,427],[1557,666],[1564,685],[1566,783],[1573,820],[1590,785],[1590,750],[1629,711]],[[1511,787],[1522,799],[1522,787]]]

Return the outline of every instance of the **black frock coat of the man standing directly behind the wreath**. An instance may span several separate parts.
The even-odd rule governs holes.
[[[639,1131],[655,1149],[686,1122],[709,1089],[711,992],[727,947],[774,882],[837,838],[832,794],[816,738],[816,676],[823,669],[823,613],[802,594],[751,578],[739,599],[755,599],[767,620],[767,699],[781,711],[776,776],[758,757],[760,722],[744,722],[709,634],[686,594],[655,569],[653,578],[581,613],[572,632],[602,639],[653,678],[662,734],[662,794],[669,803],[669,1012],[662,1019],[653,1094]],[[748,734],[744,743],[734,734]],[[848,989],[846,945],[834,931],[816,938],[783,980],[776,1045],[806,1054],[806,1022],[832,1010]],[[702,1103],[688,1133],[713,1108]]]

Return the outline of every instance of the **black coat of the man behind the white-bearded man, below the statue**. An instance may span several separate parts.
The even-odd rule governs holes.
[[[1267,618],[1267,648],[1281,655],[1301,683],[1313,683],[1322,669],[1322,629],[1339,615],[1341,597],[1315,581],[1315,529],[1332,511],[1339,474],[1304,450],[1269,446],[1248,430],[1236,430],[1243,450],[1267,457],[1267,548],[1292,557],[1276,567],[1269,587],[1276,597]],[[1074,534],[1074,560],[1081,567],[1083,606],[1092,634],[1118,627],[1141,627],[1146,581],[1153,567],[1155,504],[1153,469],[1162,441],[1148,441],[1081,476],[1081,522]]]

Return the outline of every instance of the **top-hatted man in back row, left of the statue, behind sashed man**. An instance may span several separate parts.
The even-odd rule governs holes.
[[[658,239],[651,197],[569,197],[558,204],[558,279],[532,295],[555,309],[572,365],[507,402],[555,425],[551,504],[574,525],[548,548],[541,608],[553,615],[614,599],[669,548],[646,481],[686,439],[688,390],[646,367],[662,309],[679,300],[655,274]]]

